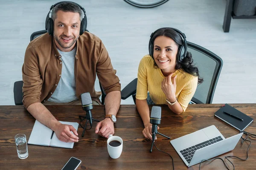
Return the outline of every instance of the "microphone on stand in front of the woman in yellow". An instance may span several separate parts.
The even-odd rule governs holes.
[[[157,125],[161,122],[161,110],[160,106],[153,106],[151,109],[150,123],[152,124],[152,142],[157,134]]]

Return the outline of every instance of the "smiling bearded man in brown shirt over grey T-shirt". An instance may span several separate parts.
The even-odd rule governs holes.
[[[85,92],[90,93],[93,104],[98,104],[100,94],[94,89],[97,74],[107,94],[106,115],[113,118],[120,106],[121,85],[102,41],[87,31],[79,35],[81,21],[84,22],[81,6],[59,3],[52,9],[51,18],[53,36],[44,34],[26,49],[22,68],[23,105],[35,119],[51,128],[58,139],[78,142],[76,129],[58,122],[44,105],[81,105],[80,95]],[[106,138],[113,134],[111,117],[99,122],[95,133]]]

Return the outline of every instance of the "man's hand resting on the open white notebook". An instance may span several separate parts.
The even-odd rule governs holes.
[[[72,131],[73,133],[71,133]],[[78,133],[72,125],[58,124],[54,128],[54,132],[59,140],[63,142],[78,142]]]

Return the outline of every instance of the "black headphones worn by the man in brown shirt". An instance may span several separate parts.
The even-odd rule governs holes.
[[[51,13],[52,8],[54,8],[55,6],[57,6],[60,3],[66,3],[66,2],[70,2],[70,1],[61,1],[61,2],[55,3],[54,5],[51,6],[50,11],[47,14],[46,21],[45,21],[45,29],[47,30],[48,34],[50,34],[52,36],[53,36],[54,23],[53,23],[52,18],[49,17],[49,14]],[[85,15],[85,9],[77,3],[74,3],[74,2],[70,2],[70,3],[76,4],[84,12],[84,18],[81,21],[81,27],[80,27],[80,33],[79,33],[81,35],[81,34],[84,33],[84,31],[86,30],[86,27],[87,27],[87,18],[86,18],[86,15]]]

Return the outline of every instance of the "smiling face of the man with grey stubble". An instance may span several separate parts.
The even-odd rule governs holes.
[[[61,51],[72,51],[80,32],[79,13],[58,11],[56,14],[53,28],[55,44]]]

